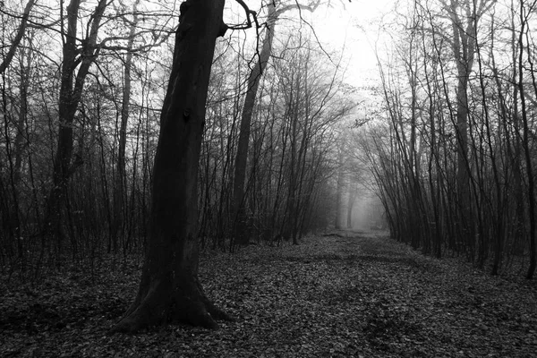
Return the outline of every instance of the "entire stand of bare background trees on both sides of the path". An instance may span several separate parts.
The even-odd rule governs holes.
[[[340,56],[328,59],[309,26],[276,25],[321,5],[261,4],[229,24],[256,27],[259,43],[240,31],[217,42],[192,233],[234,250],[348,226],[368,166],[398,240],[494,274],[520,264],[533,277],[533,2],[409,1],[405,16],[390,15],[396,45],[375,84],[382,108],[363,121]],[[178,16],[161,6],[4,2],[4,268],[37,274],[65,254],[84,262],[145,246]]]

